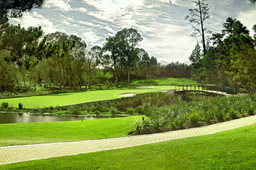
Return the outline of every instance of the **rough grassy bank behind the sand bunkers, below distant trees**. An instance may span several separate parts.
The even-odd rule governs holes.
[[[146,80],[132,80],[131,82],[131,86],[181,85],[181,84],[197,84],[197,82],[188,78],[146,79]]]

